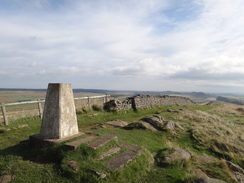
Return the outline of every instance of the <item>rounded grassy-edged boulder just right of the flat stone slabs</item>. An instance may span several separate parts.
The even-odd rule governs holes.
[[[190,158],[191,153],[181,148],[162,149],[155,156],[155,160],[159,165],[170,165]]]

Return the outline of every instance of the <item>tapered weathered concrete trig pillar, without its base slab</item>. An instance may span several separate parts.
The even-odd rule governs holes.
[[[71,84],[50,83],[46,94],[40,135],[62,139],[79,133]]]

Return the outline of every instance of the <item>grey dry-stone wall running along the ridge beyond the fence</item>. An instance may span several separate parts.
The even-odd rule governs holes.
[[[104,109],[112,110],[128,110],[133,108],[145,109],[162,105],[195,105],[195,103],[186,97],[168,96],[168,95],[137,95],[134,97],[126,98],[123,101],[110,100],[104,104]]]

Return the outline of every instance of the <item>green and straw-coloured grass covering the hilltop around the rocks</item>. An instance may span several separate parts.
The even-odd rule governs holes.
[[[210,177],[235,182],[230,170],[221,160],[232,160],[243,165],[243,157],[238,153],[226,152],[217,148],[221,143],[244,142],[242,133],[244,113],[236,111],[238,106],[216,104],[214,106],[163,106],[138,112],[124,111],[117,113],[89,111],[79,114],[78,124],[81,131],[98,135],[114,134],[120,142],[144,147],[135,161],[126,168],[111,172],[94,161],[99,153],[106,151],[116,141],[97,151],[81,146],[76,151],[67,151],[61,145],[54,147],[34,147],[29,143],[19,144],[32,134],[39,132],[41,120],[28,118],[13,122],[9,127],[0,127],[0,175],[16,175],[13,182],[191,182],[194,170],[200,168]],[[169,113],[166,109],[184,109],[179,113]],[[183,132],[174,135],[170,132],[152,132],[149,130],[125,130],[120,128],[102,128],[102,124],[111,120],[135,122],[147,115],[160,112],[165,120],[177,121],[184,127]],[[96,113],[96,115],[94,115]],[[27,127],[17,128],[21,124]],[[10,129],[10,130],[9,130]],[[209,130],[220,134],[216,135]],[[181,147],[192,153],[193,158],[182,165],[160,167],[153,163],[153,157],[160,149]],[[197,157],[209,157],[215,161],[199,163]],[[76,160],[77,172],[69,169],[67,161]],[[90,170],[108,174],[106,179],[98,179]]]

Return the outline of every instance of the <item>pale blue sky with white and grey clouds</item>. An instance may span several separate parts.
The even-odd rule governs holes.
[[[0,0],[0,88],[244,93],[243,0]]]

